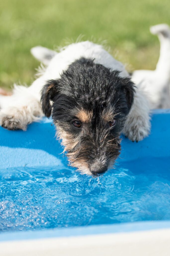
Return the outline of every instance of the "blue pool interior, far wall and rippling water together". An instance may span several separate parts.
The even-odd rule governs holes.
[[[170,111],[148,138],[123,137],[116,168],[81,175],[59,155],[51,120],[27,132],[0,127],[0,232],[170,220]]]

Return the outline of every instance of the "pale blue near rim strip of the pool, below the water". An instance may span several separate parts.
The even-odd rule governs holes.
[[[170,229],[170,220],[162,221],[137,221],[116,223],[107,225],[90,225],[73,228],[51,228],[29,231],[6,231],[0,232],[0,242],[27,240],[27,239],[45,239],[62,238],[74,236],[88,236],[109,233],[128,233],[137,231],[149,231],[154,229]]]

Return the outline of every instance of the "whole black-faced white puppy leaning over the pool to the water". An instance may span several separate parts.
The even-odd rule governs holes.
[[[26,130],[43,115],[52,115],[70,165],[98,176],[114,165],[120,135],[140,141],[150,132],[150,108],[123,64],[102,45],[77,42],[59,52],[34,47],[46,65],[30,87],[14,86],[0,96],[0,125]]]

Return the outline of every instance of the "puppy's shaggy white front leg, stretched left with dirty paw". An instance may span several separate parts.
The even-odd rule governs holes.
[[[36,89],[38,91],[38,88]],[[15,86],[11,96],[0,96],[0,125],[8,130],[26,130],[42,116],[40,95],[32,87]],[[40,92],[40,88],[39,88]]]

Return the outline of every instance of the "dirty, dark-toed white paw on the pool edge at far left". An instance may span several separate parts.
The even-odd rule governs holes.
[[[23,113],[17,108],[1,110],[0,125],[8,130],[27,130]]]

